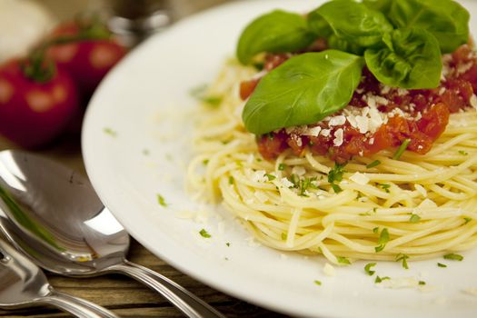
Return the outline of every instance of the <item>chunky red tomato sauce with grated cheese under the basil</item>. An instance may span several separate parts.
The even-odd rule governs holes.
[[[265,69],[281,65],[289,56],[267,55]],[[323,120],[307,127],[320,127],[326,134],[302,134],[293,129],[280,129],[257,136],[260,153],[271,160],[291,149],[302,155],[305,149],[313,154],[328,155],[343,164],[355,155],[369,156],[383,149],[397,147],[410,140],[407,150],[426,154],[432,143],[444,132],[452,113],[477,107],[477,56],[470,45],[462,45],[452,55],[443,57],[442,81],[439,87],[427,90],[403,90],[386,87],[366,69],[363,79],[349,104],[354,110],[369,106],[368,96],[378,100],[377,109],[385,122],[374,131],[362,132],[348,119],[333,125]],[[241,97],[248,98],[260,79],[243,82]],[[349,108],[347,107],[347,108]],[[345,110],[339,114],[345,114]],[[336,114],[333,114],[335,116]],[[337,142],[336,133],[340,131]]]

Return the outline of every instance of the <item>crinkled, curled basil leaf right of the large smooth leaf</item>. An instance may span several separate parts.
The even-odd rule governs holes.
[[[390,86],[435,88],[441,80],[439,44],[421,28],[397,29],[384,35],[382,47],[367,49],[364,59],[373,75]]]

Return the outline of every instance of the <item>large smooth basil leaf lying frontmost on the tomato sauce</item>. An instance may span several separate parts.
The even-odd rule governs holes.
[[[313,124],[343,109],[360,83],[363,57],[326,50],[296,55],[263,76],[243,108],[253,134]]]

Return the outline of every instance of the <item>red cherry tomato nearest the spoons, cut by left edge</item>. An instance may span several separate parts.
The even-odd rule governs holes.
[[[22,63],[0,65],[0,134],[26,148],[53,141],[79,110],[71,76],[55,70],[39,83],[25,76]]]

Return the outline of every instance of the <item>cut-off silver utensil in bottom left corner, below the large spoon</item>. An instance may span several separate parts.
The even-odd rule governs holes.
[[[80,318],[117,318],[114,313],[94,303],[55,291],[35,263],[1,239],[0,282],[1,308],[47,304]]]

